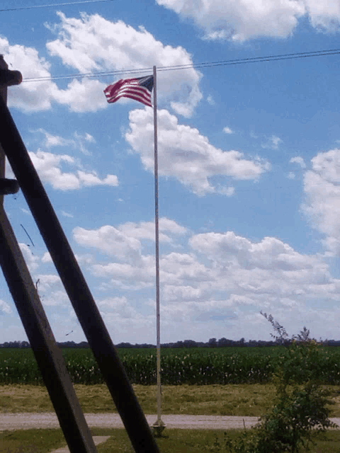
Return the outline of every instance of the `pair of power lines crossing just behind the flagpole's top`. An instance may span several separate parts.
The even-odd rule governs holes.
[[[107,0],[101,0],[107,1]],[[322,57],[324,55],[339,55],[340,49],[329,49],[329,50],[314,50],[312,52],[297,52],[283,55],[267,55],[266,57],[250,57],[242,59],[229,59],[229,60],[220,60],[217,62],[203,62],[197,64],[177,64],[174,66],[162,66],[157,67],[157,71],[179,71],[183,69],[201,69],[207,67],[217,67],[217,66],[229,66],[235,64],[246,64],[246,63],[263,63],[263,62],[273,62],[278,60],[285,59],[298,59],[298,58],[310,58],[310,57]],[[64,76],[46,76],[46,77],[30,77],[23,80],[23,82],[33,82],[33,81],[52,81],[60,79],[81,79],[81,78],[91,78],[91,77],[100,77],[100,76],[116,76],[122,74],[135,74],[135,73],[145,73],[152,71],[152,67],[149,68],[139,68],[139,69],[120,69],[115,71],[102,71],[102,72],[88,72],[88,73],[78,73],[78,74],[69,74]]]

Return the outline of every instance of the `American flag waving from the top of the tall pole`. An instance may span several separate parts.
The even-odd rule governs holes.
[[[152,107],[151,92],[154,86],[154,76],[138,77],[137,79],[121,79],[105,88],[104,93],[108,103],[114,103],[120,98],[131,98]]]

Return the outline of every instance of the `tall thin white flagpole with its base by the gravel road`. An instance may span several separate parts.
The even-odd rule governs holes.
[[[161,323],[159,311],[159,221],[158,221],[158,156],[157,156],[157,71],[154,66],[154,229],[156,240],[156,311],[157,311],[157,421],[153,427],[157,435],[162,435],[165,428],[161,420]]]

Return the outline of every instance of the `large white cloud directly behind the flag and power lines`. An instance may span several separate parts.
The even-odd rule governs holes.
[[[57,35],[57,39],[47,42],[47,50],[50,55],[60,57],[63,64],[79,72],[193,63],[191,55],[183,47],[164,45],[143,27],[136,30],[123,21],[111,22],[98,14],[83,13],[81,18],[57,14],[60,23],[47,25]],[[183,70],[178,75],[172,71],[159,73],[159,102],[168,102],[176,113],[191,116],[202,98],[200,78],[201,74],[193,68]],[[56,98],[76,111],[96,110],[106,103],[103,88],[105,86],[96,80],[74,80],[66,90],[58,91]]]

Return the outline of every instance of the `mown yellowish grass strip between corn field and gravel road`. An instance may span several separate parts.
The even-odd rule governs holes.
[[[134,385],[145,413],[157,413],[156,386]],[[324,386],[332,392],[331,417],[340,416],[340,386]],[[117,412],[105,384],[75,384],[85,413]],[[162,386],[162,413],[188,415],[244,415],[259,417],[271,408],[273,384],[229,384],[205,386]],[[13,384],[0,386],[0,412],[53,412],[43,386]]]

